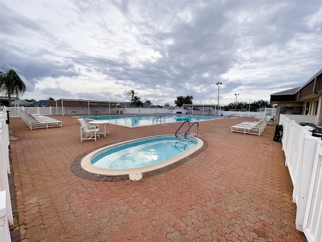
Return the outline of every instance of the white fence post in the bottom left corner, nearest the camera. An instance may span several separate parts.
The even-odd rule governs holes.
[[[0,192],[0,238],[2,242],[10,242],[10,229],[6,209],[6,191]]]

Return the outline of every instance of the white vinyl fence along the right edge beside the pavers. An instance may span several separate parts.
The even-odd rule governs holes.
[[[293,120],[296,119],[295,120]],[[322,241],[322,141],[312,137],[309,126],[315,116],[280,114],[283,126],[282,150],[285,165],[293,183],[296,203],[296,229],[303,231],[309,242]]]

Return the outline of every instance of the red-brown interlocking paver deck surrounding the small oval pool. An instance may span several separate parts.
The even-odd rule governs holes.
[[[32,131],[11,118],[23,241],[306,241],[295,229],[274,125],[258,137],[230,133],[247,118],[200,122],[208,147],[188,162],[139,181],[100,182],[75,175],[71,162],[103,145],[174,134],[179,125],[111,125],[107,137],[81,143],[76,118],[55,118],[62,128]]]

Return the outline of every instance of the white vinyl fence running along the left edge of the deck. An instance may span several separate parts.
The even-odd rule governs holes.
[[[0,112],[0,238],[11,241],[9,225],[14,224],[9,190],[9,127],[7,113]]]

